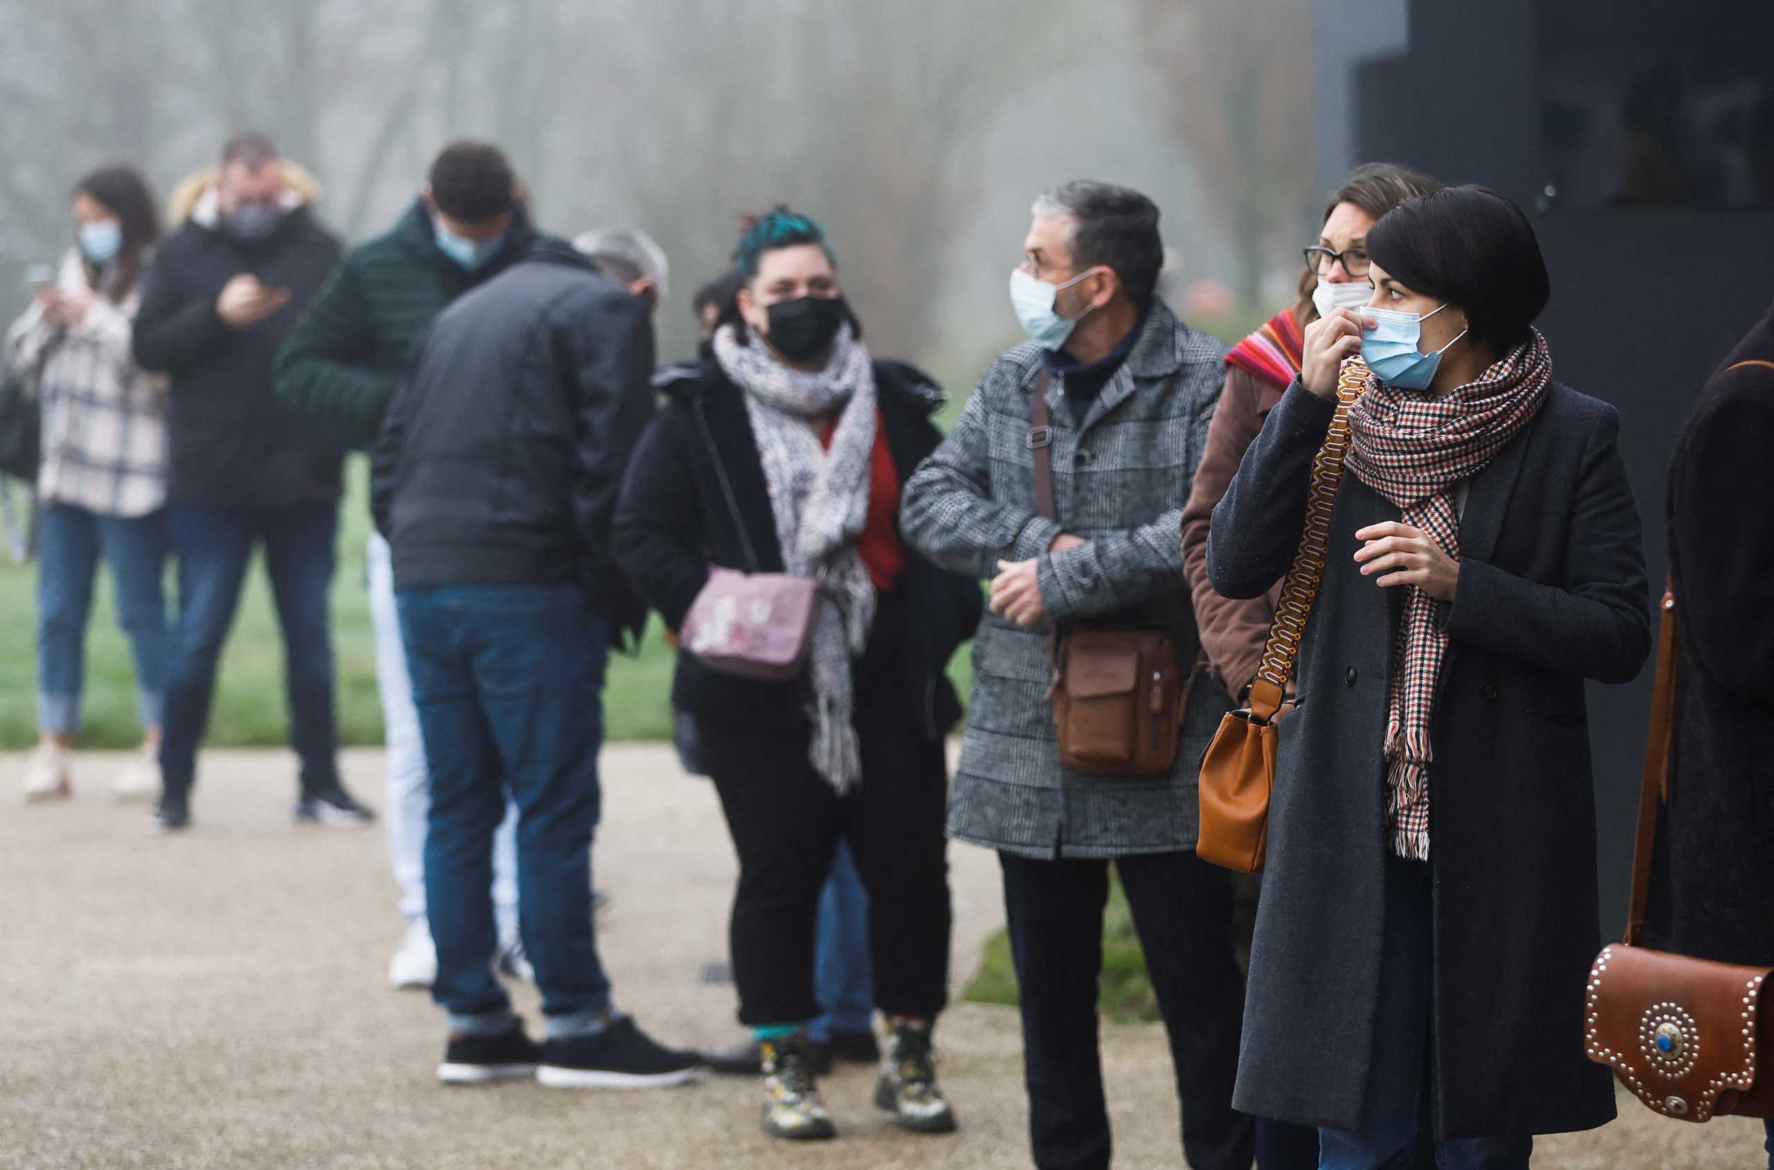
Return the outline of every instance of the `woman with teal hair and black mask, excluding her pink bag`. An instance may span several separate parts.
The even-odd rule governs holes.
[[[672,629],[711,566],[820,578],[802,677],[718,674],[687,631],[672,686],[740,854],[733,973],[765,1057],[763,1126],[836,1136],[805,1026],[820,1016],[820,888],[843,838],[867,888],[875,1002],[892,1034],[875,1101],[907,1129],[946,1133],[931,1026],[947,996],[944,736],[960,702],[944,668],[983,597],[899,539],[901,486],[940,441],[942,395],[869,358],[812,220],[763,216],[734,261],[743,323],[667,388],[617,505],[617,558]]]

